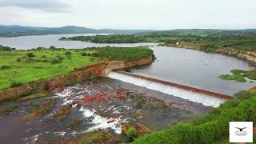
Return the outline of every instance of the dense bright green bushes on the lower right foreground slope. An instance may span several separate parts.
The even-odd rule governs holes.
[[[256,93],[240,91],[233,99],[204,116],[192,117],[167,130],[146,134],[134,143],[214,143],[228,137],[229,122],[232,121],[256,122]]]

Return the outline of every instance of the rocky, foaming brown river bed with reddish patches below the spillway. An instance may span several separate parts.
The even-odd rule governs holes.
[[[47,105],[50,109],[45,114],[31,116],[31,106],[36,109],[52,99],[55,101]],[[126,142],[122,127],[127,123],[162,130],[211,109],[110,78],[55,90],[48,98],[1,103],[0,107],[14,103],[17,111],[0,115],[1,143],[77,142],[82,134],[94,130],[107,130],[119,142]],[[63,106],[70,106],[70,112],[60,113]]]

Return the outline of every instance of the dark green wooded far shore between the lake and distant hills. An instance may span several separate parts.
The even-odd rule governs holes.
[[[206,52],[214,52],[217,47],[231,47],[239,50],[255,50],[255,33],[226,33],[226,34],[176,34],[176,33],[150,33],[150,34],[111,34],[96,36],[78,36],[61,38],[60,40],[75,40],[95,43],[139,43],[161,42],[162,46],[200,45]]]

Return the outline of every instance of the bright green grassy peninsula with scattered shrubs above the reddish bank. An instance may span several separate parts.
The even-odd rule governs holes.
[[[98,63],[98,59],[134,61],[150,54],[153,51],[146,47],[67,50],[51,46],[50,49],[39,47],[34,50],[14,50],[1,46],[0,90],[67,74],[77,68]]]

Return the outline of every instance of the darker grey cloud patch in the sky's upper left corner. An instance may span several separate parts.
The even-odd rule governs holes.
[[[70,11],[70,5],[63,0],[1,0],[0,7],[6,6],[38,9],[51,13],[66,13]]]

